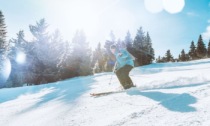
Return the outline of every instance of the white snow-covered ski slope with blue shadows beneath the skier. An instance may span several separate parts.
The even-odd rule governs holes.
[[[138,67],[138,89],[118,90],[111,73],[0,89],[0,126],[209,126],[210,59]]]

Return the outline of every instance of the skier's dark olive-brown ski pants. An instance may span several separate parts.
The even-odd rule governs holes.
[[[125,65],[116,71],[117,78],[124,89],[128,89],[134,86],[131,78],[129,77],[129,72],[132,68],[133,67],[130,65]]]

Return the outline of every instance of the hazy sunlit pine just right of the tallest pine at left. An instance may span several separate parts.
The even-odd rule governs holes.
[[[70,78],[71,76],[65,69],[63,69],[65,56],[68,55],[71,52],[71,49],[69,47],[69,42],[64,41],[62,39],[62,36],[58,30],[56,30],[54,33],[50,35],[49,40],[49,64],[48,66],[48,80],[52,80],[51,78],[54,77],[54,80],[60,80],[65,78]],[[51,74],[49,74],[51,73]],[[63,74],[67,74],[67,77],[63,77]],[[47,81],[48,81],[47,80]]]

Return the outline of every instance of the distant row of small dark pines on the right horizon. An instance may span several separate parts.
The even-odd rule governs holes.
[[[191,42],[189,52],[186,52],[184,49],[181,50],[178,58],[174,58],[171,51],[167,50],[165,56],[158,57],[156,59],[157,63],[164,63],[164,62],[184,62],[184,61],[191,61],[191,60],[198,60],[210,58],[210,40],[208,43],[208,47],[206,47],[202,35],[199,35],[197,44],[194,41]]]

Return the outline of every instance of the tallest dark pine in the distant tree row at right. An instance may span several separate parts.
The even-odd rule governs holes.
[[[196,53],[199,58],[204,58],[206,56],[206,47],[203,42],[202,36],[199,36]]]

